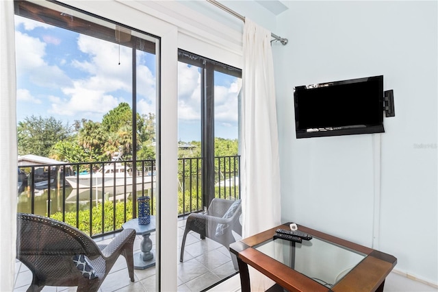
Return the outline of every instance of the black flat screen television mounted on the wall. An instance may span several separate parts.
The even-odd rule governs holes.
[[[383,75],[296,86],[296,138],[385,132],[383,100]]]

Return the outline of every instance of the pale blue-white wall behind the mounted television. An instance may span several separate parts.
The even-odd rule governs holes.
[[[276,34],[289,44],[273,47],[283,221],[392,254],[396,269],[437,284],[437,1],[283,3]],[[394,89],[384,134],[295,138],[294,86],[372,75]]]

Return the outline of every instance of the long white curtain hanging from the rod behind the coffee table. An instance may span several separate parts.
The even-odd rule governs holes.
[[[279,139],[270,39],[267,29],[245,19],[240,125],[243,237],[281,223]],[[253,271],[250,278],[252,291],[266,291],[272,286],[272,282]]]

